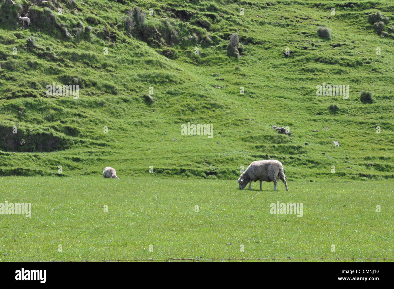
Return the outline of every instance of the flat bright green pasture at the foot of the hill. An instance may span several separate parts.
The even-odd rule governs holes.
[[[0,203],[32,203],[32,216],[0,214],[0,261],[394,257],[390,181],[289,181],[273,192],[119,177],[2,177]],[[277,201],[303,203],[303,216],[271,214]]]

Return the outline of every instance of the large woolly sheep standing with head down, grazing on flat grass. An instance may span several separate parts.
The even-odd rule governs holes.
[[[241,174],[240,178],[238,179],[238,183],[240,185],[240,189],[242,190],[245,188],[247,183],[250,182],[250,190],[252,181],[255,182],[259,180],[260,190],[262,190],[261,184],[263,181],[273,182],[273,190],[276,191],[276,181],[279,179],[281,179],[286,186],[286,190],[289,190],[284,176],[283,167],[279,160],[256,160],[249,164],[245,172]]]

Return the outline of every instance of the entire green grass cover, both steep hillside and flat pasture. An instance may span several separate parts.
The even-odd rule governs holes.
[[[0,0],[0,204],[33,211],[0,214],[1,261],[394,257],[392,0],[15,2]],[[290,190],[238,190],[265,159]]]

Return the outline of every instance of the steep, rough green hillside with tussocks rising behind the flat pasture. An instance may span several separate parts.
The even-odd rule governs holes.
[[[276,158],[290,180],[394,177],[392,1],[15,2],[0,7],[0,175],[236,179]],[[78,99],[47,95],[53,82]],[[188,122],[213,138],[182,135]]]

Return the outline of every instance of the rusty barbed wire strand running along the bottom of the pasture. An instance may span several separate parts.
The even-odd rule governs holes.
[[[192,262],[207,262],[207,261],[394,261],[394,258],[167,258],[167,259],[119,259],[119,260],[70,260],[60,262],[169,262],[169,261],[192,261]]]

